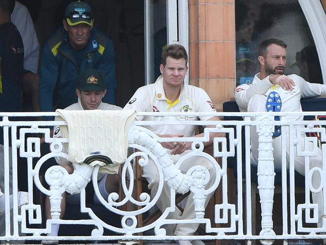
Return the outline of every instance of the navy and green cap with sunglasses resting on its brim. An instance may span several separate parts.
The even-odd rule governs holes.
[[[92,9],[85,2],[72,2],[67,6],[65,12],[66,21],[69,26],[87,24],[93,26]]]

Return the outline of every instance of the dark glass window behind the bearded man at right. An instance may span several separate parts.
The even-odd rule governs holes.
[[[235,0],[235,17],[237,85],[250,83],[259,72],[258,47],[269,38],[287,44],[285,74],[322,83],[314,41],[297,0]]]

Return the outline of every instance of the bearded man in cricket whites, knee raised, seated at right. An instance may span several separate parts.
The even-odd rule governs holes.
[[[257,73],[252,84],[242,84],[236,88],[235,100],[240,111],[264,112],[264,111],[281,111],[281,112],[301,112],[300,99],[326,94],[325,84],[309,83],[302,77],[291,74],[283,75],[286,65],[286,44],[277,39],[268,39],[263,41],[259,47],[258,61],[260,63],[260,73]],[[285,120],[302,120],[303,115],[287,115]],[[275,120],[280,120],[275,116]],[[286,129],[280,131],[280,127],[275,127],[273,134],[273,157],[274,166],[281,168],[282,144],[280,135],[286,137],[286,159],[289,167],[289,132]],[[251,163],[258,163],[258,134],[256,127],[250,128],[251,137]],[[304,134],[301,134],[301,141],[304,141]],[[304,143],[302,143],[304,145]],[[309,148],[312,149],[312,143],[309,142]],[[311,151],[309,149],[309,151]],[[322,168],[322,154],[318,148],[317,156],[310,157],[310,169],[312,167]],[[294,153],[294,168],[301,175],[305,175],[305,160],[302,156]],[[312,185],[317,188],[320,184],[319,174],[312,177]],[[312,193],[312,200],[318,204],[319,223],[321,218],[326,214],[323,212],[322,193]]]

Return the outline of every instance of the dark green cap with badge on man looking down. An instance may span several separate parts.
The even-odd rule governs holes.
[[[103,91],[106,89],[102,74],[96,69],[86,69],[77,77],[77,88],[84,91]]]

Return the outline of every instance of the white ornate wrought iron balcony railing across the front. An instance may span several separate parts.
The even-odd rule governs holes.
[[[310,198],[311,193],[322,192],[325,194],[324,183],[326,179],[326,148],[325,148],[325,126],[326,121],[302,120],[287,121],[281,119],[274,121],[274,115],[326,115],[326,112],[301,112],[301,113],[187,113],[188,115],[218,115],[221,118],[230,116],[243,117],[244,120],[220,120],[220,121],[134,121],[129,131],[129,147],[133,153],[129,155],[125,163],[121,165],[121,187],[119,193],[111,193],[108,200],[100,194],[97,186],[98,167],[81,165],[73,175],[69,175],[59,165],[45,168],[47,160],[54,157],[67,158],[62,152],[62,145],[68,143],[68,139],[53,138],[50,129],[57,125],[65,125],[64,121],[36,120],[37,116],[55,116],[55,112],[48,113],[0,113],[4,133],[4,190],[6,197],[13,194],[13,208],[10,206],[9,198],[5,201],[6,227],[0,241],[10,240],[99,240],[99,241],[140,241],[149,240],[261,240],[264,244],[270,244],[275,239],[325,239],[326,223],[318,222],[318,206],[313,204]],[[138,113],[138,115],[155,116],[182,116],[182,113]],[[252,119],[252,118],[257,118]],[[285,118],[285,117],[283,117]],[[215,128],[205,128],[202,138],[159,138],[152,132],[145,129],[149,125],[214,125]],[[274,165],[272,132],[274,125],[281,126],[282,139],[282,171],[281,171],[281,205],[273,209],[274,200]],[[257,126],[259,134],[259,161],[250,162],[250,127]],[[204,151],[204,142],[209,139],[210,132],[225,133],[225,137],[215,138],[213,142],[212,155]],[[242,132],[244,134],[242,134]],[[297,136],[310,133],[301,144]],[[49,144],[50,152],[42,155],[40,134],[44,135],[44,144]],[[286,142],[285,134],[288,134],[289,142]],[[11,139],[10,139],[11,138]],[[318,143],[318,140],[320,141]],[[160,142],[193,142],[192,152],[185,155],[176,165],[171,165],[169,155],[166,154]],[[310,143],[309,143],[310,142]],[[289,145],[289,159],[286,159],[285,147]],[[310,148],[309,148],[310,144]],[[245,149],[243,148],[245,146]],[[312,146],[312,148],[311,148]],[[321,148],[322,168],[309,168],[310,159],[317,155]],[[300,189],[302,201],[297,201],[296,180],[294,177],[294,155],[303,156],[305,159],[304,187]],[[201,156],[211,162],[216,171],[216,179],[212,186],[204,188],[210,175],[208,171],[200,166],[190,169],[187,173],[178,171],[180,164],[187,158]],[[235,158],[234,158],[235,157]],[[159,187],[156,195],[150,199],[145,191],[134,193],[133,189],[141,178],[135,175],[135,166],[143,166],[148,158],[153,159],[159,172]],[[9,160],[12,159],[12,166]],[[26,191],[29,193],[28,204],[18,207],[17,193],[18,184],[21,181],[18,175],[19,159],[26,159],[27,172],[24,178],[27,179]],[[231,162],[235,164],[231,164]],[[286,170],[287,162],[289,169]],[[252,164],[258,168],[258,187],[253,181],[255,176],[251,175]],[[234,168],[236,177],[228,171]],[[12,170],[12,188],[10,187],[9,170]],[[43,169],[43,170],[42,170]],[[287,174],[288,173],[288,174]],[[321,178],[319,186],[312,186],[312,175]],[[21,174],[22,175],[22,174]],[[20,176],[21,176],[20,175]],[[42,179],[44,176],[45,181]],[[92,178],[91,178],[92,176]],[[92,179],[92,180],[91,180]],[[171,207],[158,215],[155,220],[142,224],[142,219],[150,215],[155,208],[162,185],[167,181],[171,187]],[[234,180],[234,181],[233,181]],[[118,214],[119,225],[114,225],[98,215],[86,202],[85,187],[92,182],[94,191],[105,209],[111,213]],[[138,183],[137,183],[138,182]],[[50,188],[46,186],[49,184]],[[80,212],[86,213],[89,219],[80,218],[77,220],[60,219],[61,194],[68,190],[80,191]],[[235,188],[233,185],[236,185]],[[254,187],[254,188],[252,188]],[[235,189],[234,193],[230,192]],[[217,189],[217,190],[216,190]],[[220,199],[214,203],[214,210],[205,211],[203,197],[216,190]],[[259,190],[259,202],[253,200],[253,194]],[[168,214],[175,209],[176,194],[191,191],[194,194],[196,207],[196,218],[192,220],[168,219]],[[78,190],[77,190],[78,192]],[[245,193],[243,195],[243,193]],[[41,195],[42,194],[42,195]],[[51,201],[52,219],[45,220],[45,207],[42,199],[48,195]],[[35,200],[41,196],[40,202]],[[234,196],[234,198],[231,198]],[[324,203],[324,200],[323,200]],[[255,207],[253,205],[256,205]],[[259,211],[261,210],[261,211]],[[262,219],[255,220],[252,214],[260,212]],[[320,211],[320,207],[319,207]],[[324,209],[321,210],[326,215]],[[208,217],[207,213],[211,213]],[[12,214],[12,215],[10,215]],[[140,218],[139,218],[140,217]],[[128,223],[127,220],[132,220]],[[106,219],[107,220],[107,219]],[[175,236],[166,234],[166,224],[176,223],[201,223],[204,232],[194,236]],[[66,225],[92,225],[90,233],[83,235],[68,236],[46,236],[51,232],[51,224]],[[275,227],[275,223],[277,226]],[[105,235],[105,230],[115,234]]]

